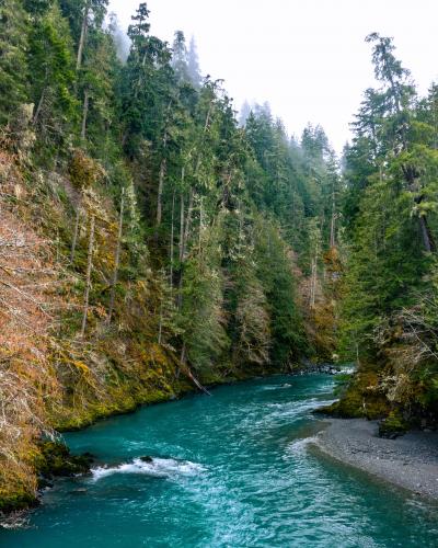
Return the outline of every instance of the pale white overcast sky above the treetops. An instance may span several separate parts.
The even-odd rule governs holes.
[[[393,36],[422,93],[438,80],[438,0],[149,0],[151,32],[197,41],[203,73],[223,78],[239,110],[268,101],[290,134],[321,124],[337,151],[373,85],[370,32]],[[111,0],[124,26],[139,0]]]

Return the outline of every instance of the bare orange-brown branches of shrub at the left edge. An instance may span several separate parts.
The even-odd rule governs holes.
[[[4,176],[8,165],[0,158]],[[9,169],[2,196],[21,187]],[[4,179],[3,179],[4,181]],[[45,430],[44,407],[57,392],[47,359],[55,322],[56,272],[48,242],[7,209],[0,196],[0,493],[15,480],[33,488],[30,441]],[[16,193],[15,193],[16,196]],[[3,461],[3,463],[1,463]],[[5,466],[3,466],[5,465]]]

